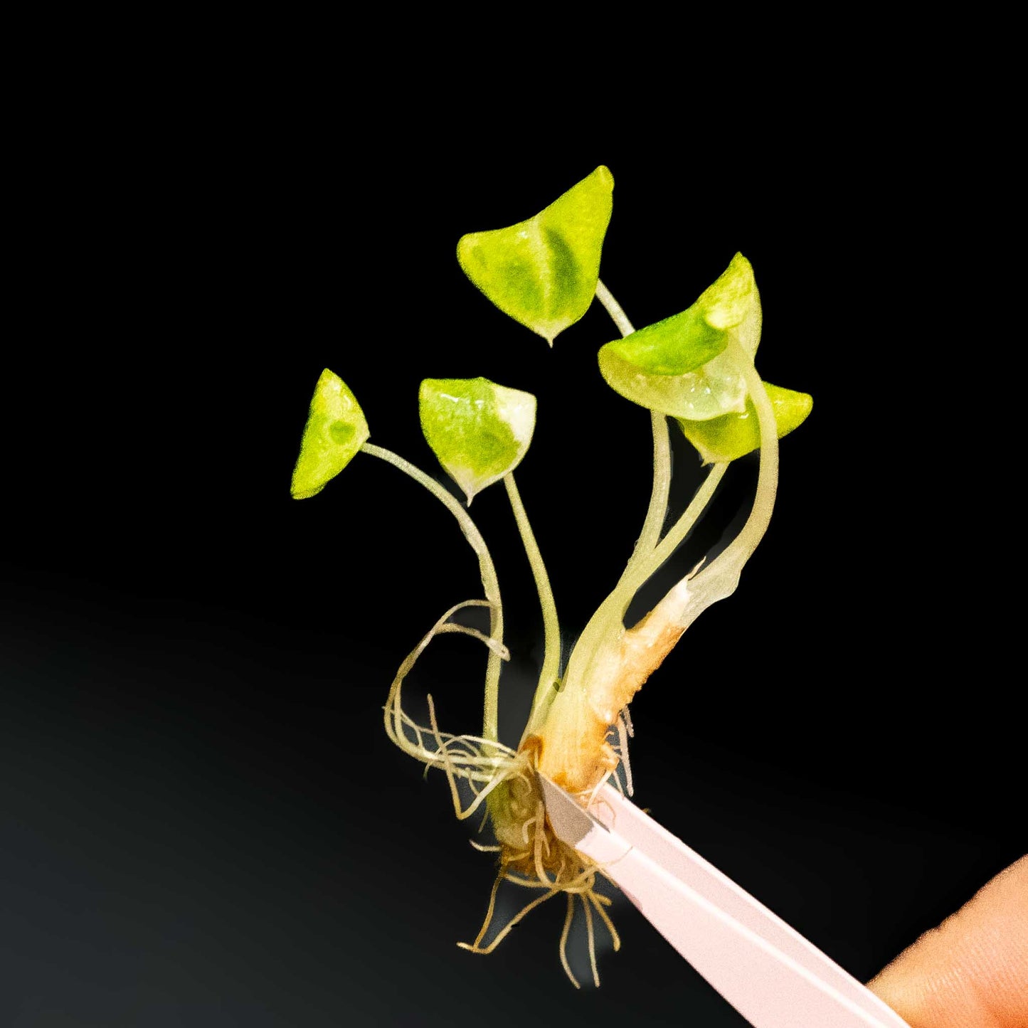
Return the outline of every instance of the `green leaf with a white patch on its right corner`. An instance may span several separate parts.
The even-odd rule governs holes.
[[[536,398],[488,378],[426,378],[418,406],[425,438],[469,505],[520,464],[536,428]]]

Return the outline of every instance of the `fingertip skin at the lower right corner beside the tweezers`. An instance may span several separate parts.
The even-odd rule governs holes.
[[[868,987],[911,1028],[1026,1028],[1028,856],[923,934]]]

